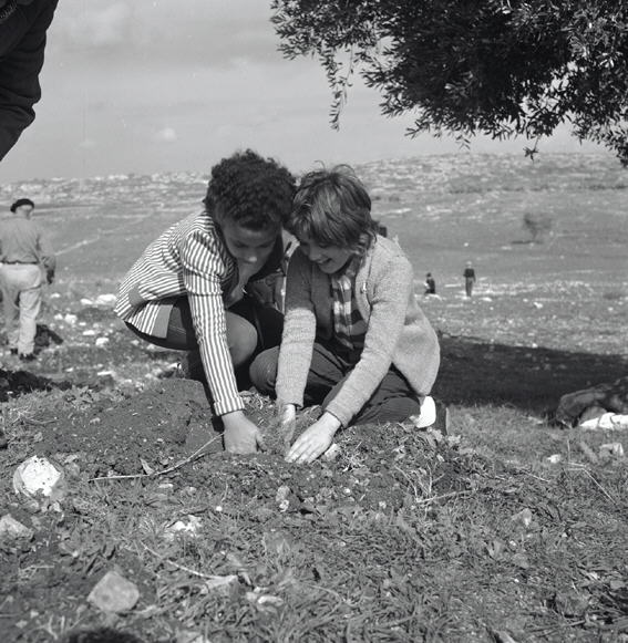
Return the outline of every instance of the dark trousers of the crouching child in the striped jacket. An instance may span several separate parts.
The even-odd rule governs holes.
[[[278,346],[281,342],[284,315],[274,308],[258,304],[250,297],[244,297],[226,311],[226,317],[227,345],[238,387],[248,388],[250,386],[248,370],[251,361],[265,349]],[[128,323],[126,325],[138,338],[151,344],[173,351],[188,351],[186,375],[206,384],[187,297],[179,297],[175,301],[165,338],[143,333]]]

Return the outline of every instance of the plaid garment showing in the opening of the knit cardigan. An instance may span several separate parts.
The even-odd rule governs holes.
[[[356,274],[362,258],[352,259],[344,271],[331,276],[333,333],[336,343],[357,362],[364,348],[367,323],[356,302]]]

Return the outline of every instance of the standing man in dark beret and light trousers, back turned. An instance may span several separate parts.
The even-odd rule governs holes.
[[[7,343],[20,360],[34,360],[37,317],[45,280],[54,280],[55,258],[40,227],[31,220],[34,204],[18,199],[12,217],[0,220],[0,287]]]

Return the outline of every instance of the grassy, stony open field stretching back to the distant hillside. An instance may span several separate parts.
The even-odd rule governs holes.
[[[97,301],[207,177],[0,186],[0,204],[38,203],[60,251],[48,345],[29,373],[2,360],[0,518],[32,532],[0,542],[0,640],[628,641],[626,459],[599,456],[626,433],[547,423],[562,394],[628,374],[628,172],[604,155],[357,169],[418,294],[436,278],[441,298],[422,302],[453,426],[350,428],[336,460],[309,467],[282,460],[255,394],[270,452],[222,453],[202,388],[172,376],[176,353]],[[525,212],[550,217],[543,243]],[[33,454],[65,470],[56,507],[13,492]],[[117,615],[87,601],[111,570],[140,591]],[[72,635],[96,628],[117,634]]]

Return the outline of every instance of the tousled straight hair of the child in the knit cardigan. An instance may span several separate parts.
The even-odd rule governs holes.
[[[302,177],[286,229],[319,246],[360,252],[373,239],[377,224],[367,189],[351,167],[339,165]]]

